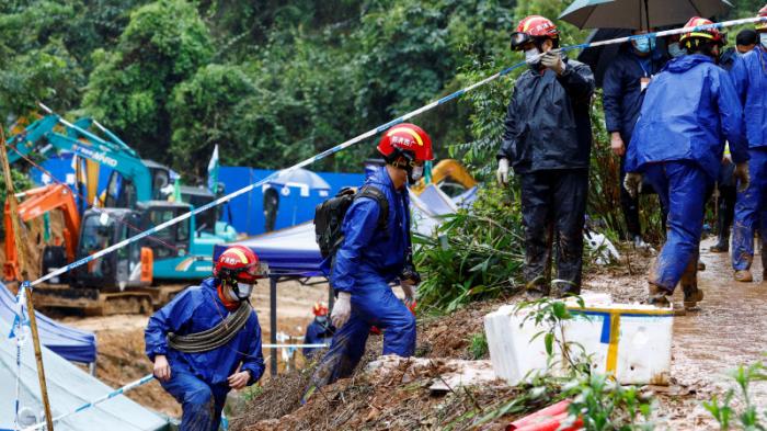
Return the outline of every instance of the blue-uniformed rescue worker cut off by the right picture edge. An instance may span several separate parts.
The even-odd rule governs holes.
[[[759,16],[767,16],[767,5]],[[735,220],[732,234],[732,266],[739,282],[752,282],[751,263],[754,259],[754,229],[762,226],[762,263],[767,264],[764,247],[767,237],[767,23],[756,24],[759,45],[739,58],[730,71],[735,90],[743,103],[746,139],[754,181],[745,192],[739,192],[735,203]],[[763,266],[767,269],[767,265]]]

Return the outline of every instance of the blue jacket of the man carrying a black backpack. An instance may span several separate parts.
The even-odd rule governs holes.
[[[410,199],[408,190],[394,190],[385,167],[380,167],[365,181],[379,189],[389,200],[387,230],[378,228],[378,202],[358,197],[350,205],[341,226],[344,239],[335,253],[335,264],[330,271],[334,290],[353,293],[365,286],[357,281],[375,275],[384,282],[392,282],[404,269],[410,242]],[[327,271],[330,258],[323,262]],[[325,272],[327,274],[327,272]]]

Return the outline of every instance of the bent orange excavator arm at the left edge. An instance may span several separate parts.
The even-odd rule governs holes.
[[[65,228],[62,231],[64,238],[56,238],[57,241],[64,240],[64,250],[68,262],[75,260],[75,253],[78,246],[80,235],[80,214],[78,213],[77,203],[72,191],[64,184],[45,185],[37,189],[28,190],[24,193],[26,200],[18,206],[18,217],[22,222],[30,222],[43,214],[60,209],[64,214]],[[13,227],[10,205],[5,202],[4,209],[4,227],[5,227],[5,263],[3,264],[3,276],[5,280],[23,280],[19,256],[13,238]],[[55,246],[60,248],[60,242]],[[45,254],[45,253],[44,253]],[[45,264],[43,271],[47,271]]]

